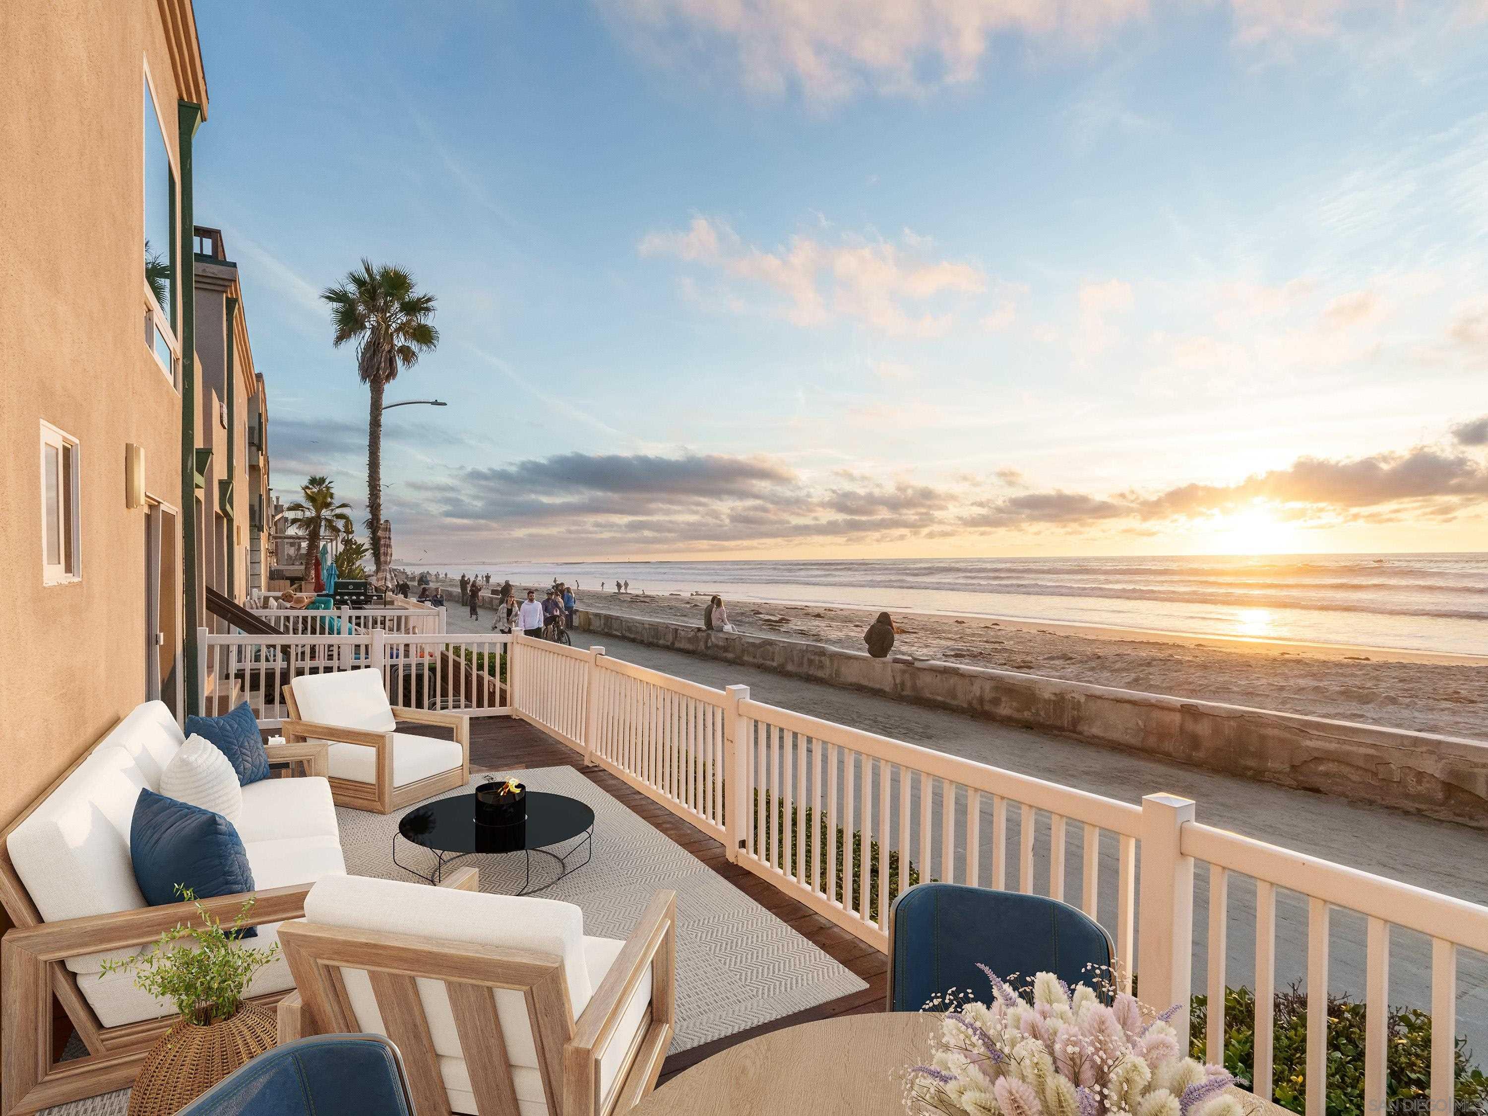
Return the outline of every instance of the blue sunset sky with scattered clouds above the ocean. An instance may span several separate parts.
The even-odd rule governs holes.
[[[269,455],[399,561],[1488,549],[1488,0],[196,4]],[[360,516],[359,516],[360,521]]]

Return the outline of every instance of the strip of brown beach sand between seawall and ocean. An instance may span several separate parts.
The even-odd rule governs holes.
[[[458,607],[458,586],[452,600]],[[579,607],[701,625],[707,600],[583,589]],[[726,604],[729,620],[743,632],[851,650],[863,650],[863,631],[876,615]],[[1488,656],[1475,662],[1470,656],[930,613],[897,613],[894,623],[894,653],[917,659],[1488,741]]]

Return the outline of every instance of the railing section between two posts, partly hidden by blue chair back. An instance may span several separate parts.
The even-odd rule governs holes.
[[[1107,914],[1115,902],[1117,979],[1129,982],[1140,808],[734,692],[731,771],[747,812],[737,830],[741,865],[879,949],[909,865],[920,879],[1048,894],[1092,917],[1100,917],[1104,868],[1116,881]],[[1103,833],[1110,835],[1104,865]],[[1048,853],[1042,878],[1036,847]],[[838,860],[839,887],[830,870]]]

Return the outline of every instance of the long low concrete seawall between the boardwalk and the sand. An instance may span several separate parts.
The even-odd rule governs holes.
[[[951,662],[872,659],[820,643],[710,632],[635,616],[580,610],[577,619],[597,635],[1488,829],[1488,744],[1472,740]]]

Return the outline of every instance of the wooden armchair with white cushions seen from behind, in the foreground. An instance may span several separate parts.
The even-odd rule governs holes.
[[[280,929],[296,988],[280,1042],[385,1034],[421,1116],[618,1116],[655,1088],[671,1043],[676,908],[658,891],[615,942],[585,937],[568,903],[323,879],[305,920]]]

